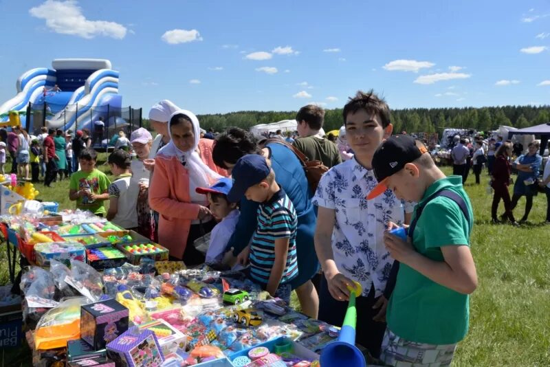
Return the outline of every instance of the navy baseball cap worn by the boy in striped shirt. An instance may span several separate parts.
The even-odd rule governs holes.
[[[267,166],[265,158],[259,154],[243,155],[236,161],[231,177],[233,178],[233,187],[229,191],[228,200],[236,203],[245,195],[250,186],[260,183],[265,177],[270,175],[271,168]]]

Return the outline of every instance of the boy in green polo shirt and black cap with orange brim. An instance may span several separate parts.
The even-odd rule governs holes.
[[[400,265],[381,359],[391,366],[448,366],[467,333],[468,295],[477,287],[470,199],[461,177],[446,177],[426,147],[408,135],[382,143],[372,164],[380,184],[368,199],[391,188],[399,199],[417,202],[407,241],[384,235]]]

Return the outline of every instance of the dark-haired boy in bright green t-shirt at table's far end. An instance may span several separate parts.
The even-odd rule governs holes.
[[[76,209],[89,210],[104,216],[105,200],[109,200],[109,185],[107,175],[96,169],[98,153],[94,149],[83,149],[78,155],[80,170],[71,175],[69,184],[69,199],[76,201]]]

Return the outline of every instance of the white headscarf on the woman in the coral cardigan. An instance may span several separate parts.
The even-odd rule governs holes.
[[[193,126],[193,133],[195,134],[195,142],[193,142],[192,147],[188,151],[181,151],[174,144],[172,140],[172,129],[170,129],[170,120],[172,120],[175,115],[186,115],[190,120]],[[197,153],[197,146],[199,145],[199,139],[201,135],[201,127],[199,126],[199,119],[195,116],[195,113],[180,109],[175,111],[170,115],[168,119],[168,134],[170,134],[170,142],[163,146],[158,155],[160,157],[177,157],[180,161],[182,158],[186,161],[186,168],[189,171],[189,188],[190,188],[190,197],[191,201],[205,201],[205,196],[203,194],[197,194],[195,188],[208,188],[212,186],[216,181],[221,179],[221,175],[208,167],[204,162],[202,162],[199,153]]]

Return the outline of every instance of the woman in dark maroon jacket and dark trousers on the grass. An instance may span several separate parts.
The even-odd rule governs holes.
[[[504,201],[505,214],[501,217],[503,220],[509,219],[512,225],[518,225],[516,219],[514,219],[514,213],[511,211],[511,199],[508,192],[508,186],[510,184],[510,164],[508,162],[511,157],[511,144],[505,142],[500,145],[495,154],[495,162],[492,171],[491,186],[494,189],[493,204],[491,207],[491,217],[493,223],[500,223],[496,216],[496,210],[498,209],[498,203],[500,199]]]

